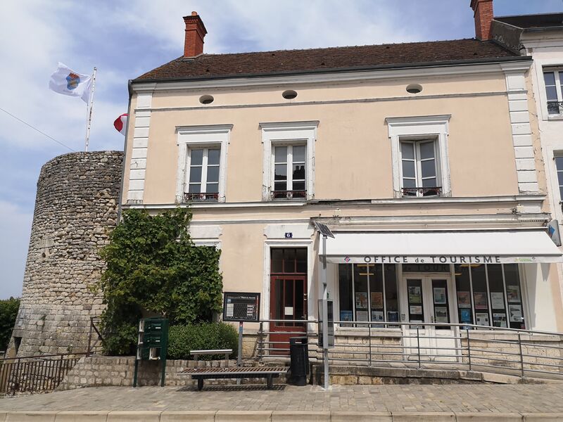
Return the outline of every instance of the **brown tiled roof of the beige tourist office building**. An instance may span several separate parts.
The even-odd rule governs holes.
[[[203,54],[193,59],[179,57],[146,72],[134,82],[155,79],[205,79],[236,75],[322,72],[350,68],[393,68],[422,63],[438,64],[514,57],[517,57],[515,53],[492,41],[476,39],[332,47],[329,49]]]

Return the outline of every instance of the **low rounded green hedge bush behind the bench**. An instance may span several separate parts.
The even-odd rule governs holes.
[[[191,350],[232,349],[237,355],[239,333],[224,322],[171,326],[168,334],[168,359],[193,359]],[[202,355],[199,359],[221,359],[223,355]]]

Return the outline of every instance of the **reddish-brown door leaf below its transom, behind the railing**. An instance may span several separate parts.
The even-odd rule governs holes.
[[[270,323],[271,354],[289,355],[289,338],[307,332],[307,276],[271,276],[270,319],[281,320]]]

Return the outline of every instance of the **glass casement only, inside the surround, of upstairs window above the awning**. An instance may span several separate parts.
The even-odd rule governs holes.
[[[436,141],[400,141],[403,196],[438,196]]]

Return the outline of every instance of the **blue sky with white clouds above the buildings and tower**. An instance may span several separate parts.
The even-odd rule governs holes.
[[[494,8],[561,12],[563,0]],[[113,121],[127,112],[127,81],[182,56],[191,11],[208,30],[205,53],[474,37],[469,0],[0,1],[0,299],[21,295],[42,165],[84,150],[86,104],[48,89],[57,63],[84,74],[96,66],[89,149],[122,151]]]

